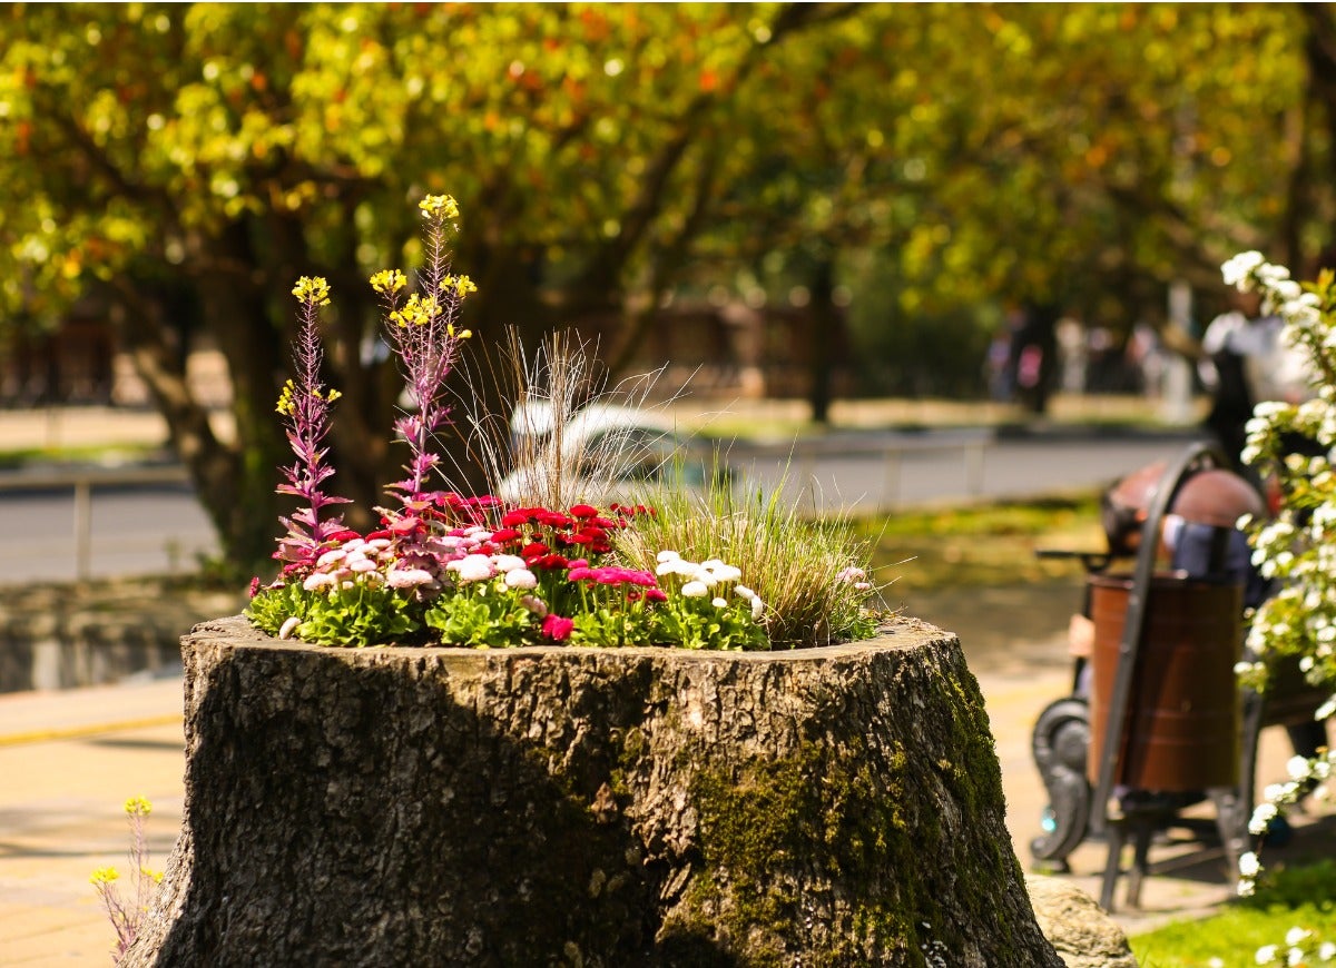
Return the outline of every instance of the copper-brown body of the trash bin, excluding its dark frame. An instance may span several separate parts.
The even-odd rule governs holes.
[[[1092,782],[1122,645],[1132,579],[1090,575],[1094,678],[1090,694]],[[1124,718],[1124,756],[1113,782],[1189,792],[1238,784],[1241,706],[1234,664],[1242,649],[1242,589],[1172,574],[1152,578],[1137,676]]]

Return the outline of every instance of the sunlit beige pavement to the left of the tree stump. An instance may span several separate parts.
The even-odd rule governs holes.
[[[131,796],[154,805],[150,861],[180,828],[182,681],[0,696],[0,964],[106,965],[115,933],[90,875],[128,887]]]

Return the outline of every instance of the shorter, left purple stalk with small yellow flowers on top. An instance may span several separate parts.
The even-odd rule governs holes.
[[[334,474],[334,467],[325,461],[329,449],[323,446],[323,441],[330,429],[330,406],[339,398],[338,390],[326,390],[321,382],[325,354],[321,347],[319,318],[321,307],[329,306],[329,284],[318,276],[302,276],[293,288],[293,295],[301,304],[301,326],[293,344],[293,370],[297,377],[283,385],[277,407],[297,461],[289,467],[279,467],[285,482],[275,490],[301,498],[306,506],[298,509],[291,518],[279,518],[287,527],[287,534],[278,539],[274,557],[295,563],[313,561],[326,538],[343,527],[341,515],[322,519],[321,511],[329,505],[349,503],[347,498],[330,495],[323,490],[325,482]]]

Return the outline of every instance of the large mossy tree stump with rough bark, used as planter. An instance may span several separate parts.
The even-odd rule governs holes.
[[[1061,965],[959,640],[182,640],[183,828],[123,965]]]

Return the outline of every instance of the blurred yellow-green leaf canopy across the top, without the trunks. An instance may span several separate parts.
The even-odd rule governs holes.
[[[1192,235],[1273,227],[1276,172],[1317,144],[1285,8],[40,5],[0,29],[0,167],[39,208],[5,215],[9,258],[52,284],[184,258],[182,227],[448,180],[573,267],[704,203],[705,251],[770,223],[895,246],[925,307],[1053,295],[1054,252],[1158,272]],[[362,218],[397,258],[402,222]]]

